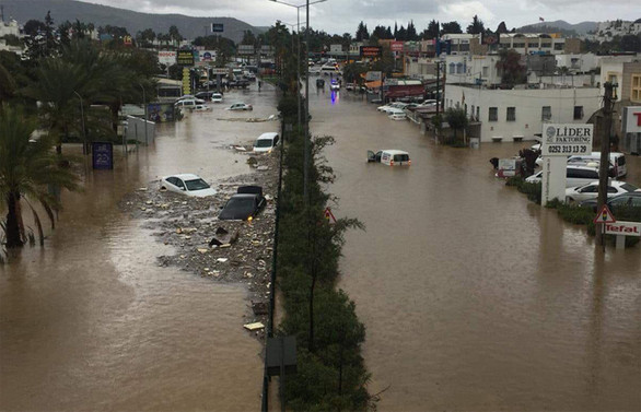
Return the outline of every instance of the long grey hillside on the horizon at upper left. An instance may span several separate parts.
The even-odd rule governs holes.
[[[126,27],[132,35],[145,28],[152,28],[155,33],[167,33],[170,26],[175,25],[183,37],[195,38],[205,35],[206,27],[210,27],[211,23],[222,23],[224,24],[222,35],[238,43],[245,31],[252,31],[255,34],[264,32],[261,28],[233,17],[148,14],[74,0],[2,0],[1,3],[4,5],[4,19],[13,17],[20,24],[32,19],[44,21],[47,11],[50,10],[56,25],[67,20],[73,22],[78,19],[84,23],[93,23],[96,27],[107,24]],[[215,4],[215,2],[212,3]],[[211,34],[209,28],[207,34]]]

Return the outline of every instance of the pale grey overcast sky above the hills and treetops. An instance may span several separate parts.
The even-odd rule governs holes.
[[[270,0],[81,0],[144,13],[179,13],[191,16],[230,16],[255,26],[270,26],[277,20],[296,22],[296,9]],[[280,0],[279,0],[280,1]],[[305,0],[284,0],[304,4]],[[314,0],[312,0],[314,1]],[[300,9],[301,22],[305,8]],[[356,33],[360,21],[370,32],[378,25],[392,26],[398,22],[407,26],[413,20],[420,33],[428,22],[457,21],[465,27],[477,14],[486,27],[496,30],[501,21],[508,28],[545,21],[564,20],[568,23],[584,21],[631,20],[641,17],[638,0],[326,0],[310,7],[310,25],[329,34]]]

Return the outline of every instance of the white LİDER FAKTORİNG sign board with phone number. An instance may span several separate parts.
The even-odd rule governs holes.
[[[541,155],[571,156],[592,153],[592,125],[543,126]]]

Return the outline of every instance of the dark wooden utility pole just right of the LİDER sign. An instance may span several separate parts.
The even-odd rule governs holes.
[[[603,134],[601,137],[601,162],[598,165],[598,198],[596,200],[597,210],[601,210],[607,201],[607,183],[609,173],[609,157],[610,157],[610,129],[613,127],[613,109],[615,99],[613,98],[615,84],[606,82],[603,85],[605,94],[603,96]],[[603,243],[605,248],[605,224],[597,224],[597,234],[602,236],[596,237],[597,245]]]

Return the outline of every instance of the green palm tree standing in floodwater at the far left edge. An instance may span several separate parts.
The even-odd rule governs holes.
[[[0,197],[7,216],[2,222],[7,248],[22,247],[28,236],[22,220],[22,200],[33,212],[40,245],[44,232],[32,202],[45,209],[54,227],[54,211],[59,202],[47,190],[48,185],[69,190],[77,189],[78,176],[68,162],[51,151],[51,137],[32,140],[36,121],[22,110],[3,105],[0,109]]]

